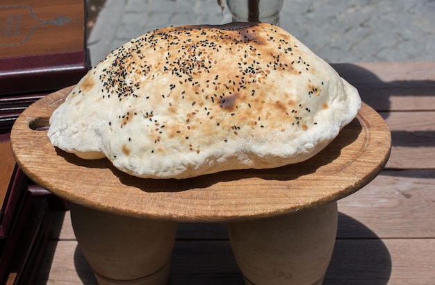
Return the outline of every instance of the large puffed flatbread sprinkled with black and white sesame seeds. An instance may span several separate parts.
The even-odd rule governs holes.
[[[181,179],[302,162],[360,107],[356,89],[282,28],[168,27],[93,67],[48,136],[140,178]]]

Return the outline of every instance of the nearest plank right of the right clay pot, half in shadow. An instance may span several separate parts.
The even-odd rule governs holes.
[[[434,284],[435,239],[338,240],[324,285]]]

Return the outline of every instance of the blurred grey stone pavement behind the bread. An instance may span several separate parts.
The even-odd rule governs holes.
[[[284,0],[280,26],[327,62],[435,61],[435,0]],[[231,21],[215,0],[106,0],[92,65],[147,31]]]

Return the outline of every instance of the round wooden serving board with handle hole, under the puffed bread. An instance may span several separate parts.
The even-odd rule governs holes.
[[[366,104],[315,157],[277,169],[224,171],[186,180],[149,180],[118,171],[108,159],[84,160],[51,146],[51,113],[72,87],[37,101],[10,136],[31,180],[76,204],[127,216],[174,221],[239,221],[309,209],[343,198],[383,169],[391,150],[384,120]]]

